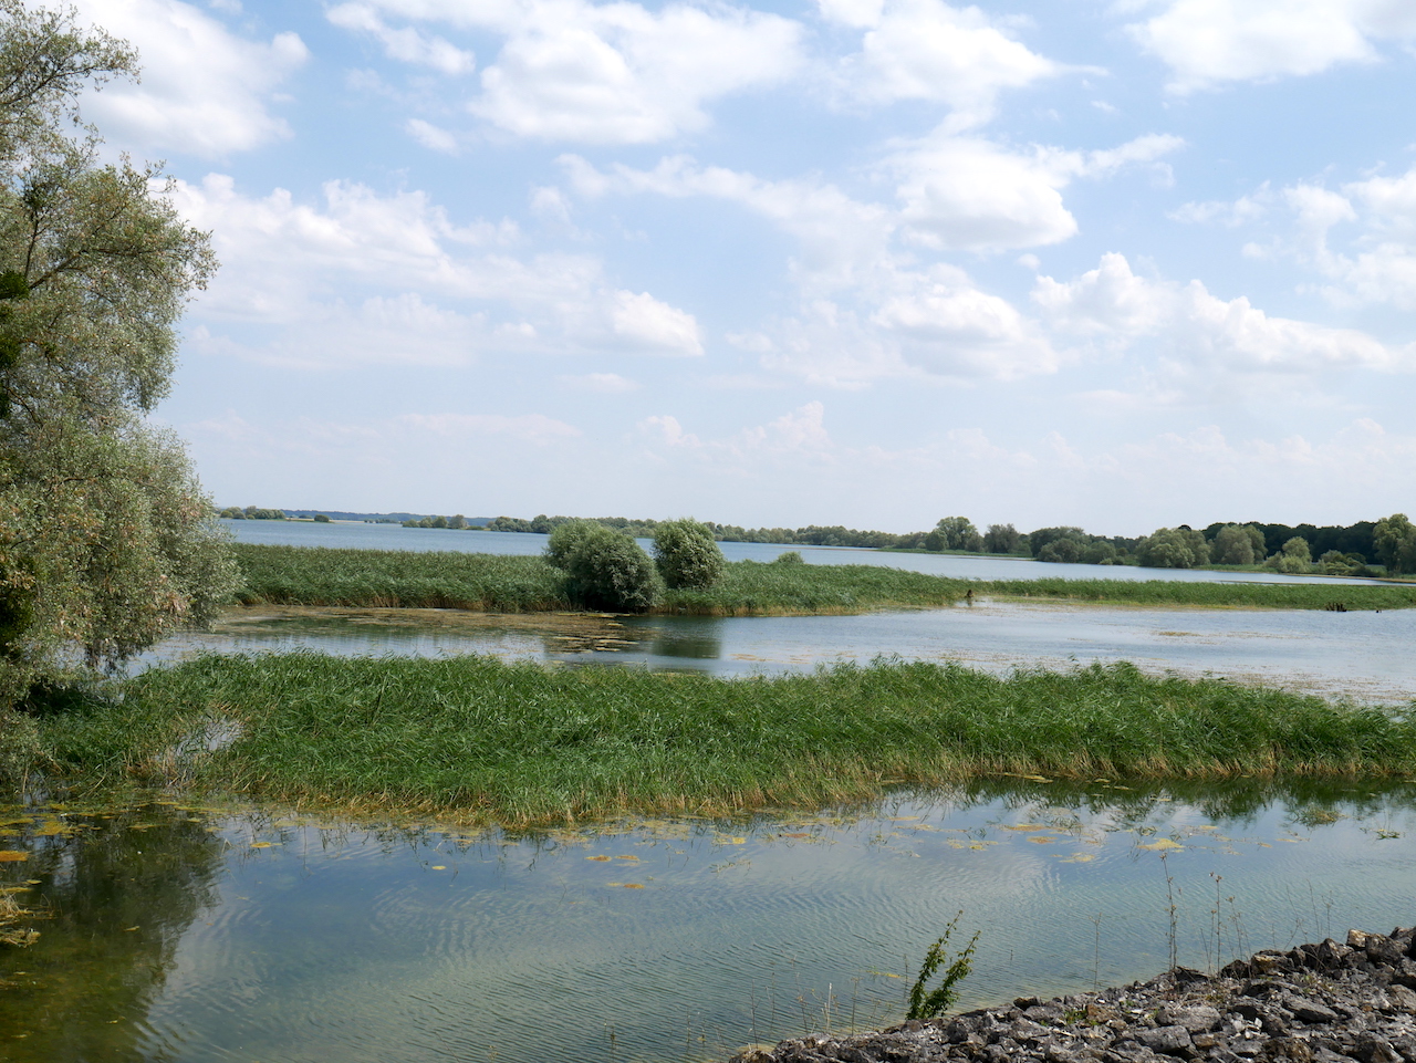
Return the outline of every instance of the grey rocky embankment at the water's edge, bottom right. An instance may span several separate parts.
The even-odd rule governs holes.
[[[1180,967],[1148,982],[803,1038],[733,1063],[1416,1063],[1416,930],[1257,953],[1218,975]]]

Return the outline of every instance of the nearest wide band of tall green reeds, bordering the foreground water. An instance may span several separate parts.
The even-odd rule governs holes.
[[[211,720],[244,736],[173,750]],[[997,678],[877,662],[722,679],[493,658],[204,657],[55,712],[59,778],[503,824],[868,800],[1003,773],[1400,777],[1408,713],[1134,667]]]

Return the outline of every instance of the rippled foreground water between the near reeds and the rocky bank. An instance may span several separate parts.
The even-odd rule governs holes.
[[[510,837],[244,807],[24,808],[0,1057],[726,1059],[898,1021],[978,931],[961,1006],[1412,921],[1416,795],[1017,783],[868,810]],[[23,858],[23,859],[21,859]]]

